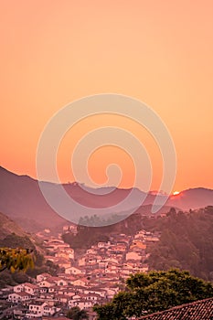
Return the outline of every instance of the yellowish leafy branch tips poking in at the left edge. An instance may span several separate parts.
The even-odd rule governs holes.
[[[23,271],[34,267],[32,250],[0,248],[0,272],[8,269],[11,272]]]

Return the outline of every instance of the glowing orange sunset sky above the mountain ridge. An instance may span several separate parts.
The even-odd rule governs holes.
[[[174,190],[212,188],[212,12],[211,0],[2,1],[1,165],[35,177],[37,141],[49,118],[70,101],[114,92],[144,101],[166,123],[176,145]],[[110,117],[100,121],[124,125]],[[80,134],[93,125],[73,130]],[[136,124],[125,126],[144,140],[157,189],[162,164],[156,145]],[[63,181],[72,180],[73,136],[68,133],[59,150]],[[121,187],[131,187],[131,160],[110,151],[91,156],[91,176],[104,182],[104,167],[118,162]]]

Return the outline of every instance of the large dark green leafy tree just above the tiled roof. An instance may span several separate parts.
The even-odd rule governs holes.
[[[131,275],[124,292],[115,294],[112,302],[94,306],[99,320],[124,320],[162,311],[213,296],[213,285],[189,272],[171,269]]]

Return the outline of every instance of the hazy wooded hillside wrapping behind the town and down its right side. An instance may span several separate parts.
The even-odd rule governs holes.
[[[88,249],[98,241],[109,240],[112,234],[133,235],[137,230],[160,231],[158,243],[148,247],[150,269],[171,267],[188,270],[205,280],[213,281],[213,207],[189,212],[171,208],[164,218],[142,218],[133,214],[128,219],[106,227],[79,227],[77,236],[63,235],[63,240],[75,249]]]

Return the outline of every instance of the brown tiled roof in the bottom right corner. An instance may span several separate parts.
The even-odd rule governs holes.
[[[144,315],[138,320],[211,320],[213,319],[213,298],[182,304],[168,310]]]

